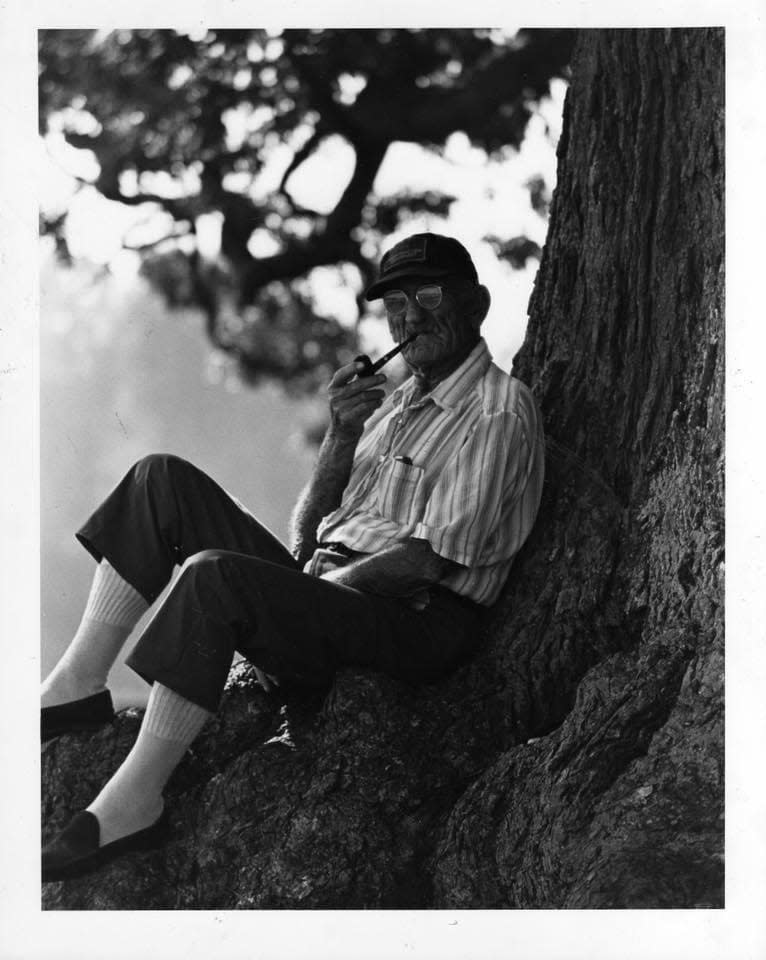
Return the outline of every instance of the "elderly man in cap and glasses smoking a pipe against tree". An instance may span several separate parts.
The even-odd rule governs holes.
[[[396,244],[382,297],[412,373],[385,397],[362,363],[332,378],[330,425],[293,517],[290,552],[191,464],[133,467],[78,532],[98,561],[77,634],[43,685],[42,735],[113,717],[108,671],[138,617],[181,573],[128,664],[152,684],[136,743],[43,850],[43,879],[161,842],[162,791],[217,709],[235,651],[307,686],[343,665],[419,683],[473,650],[538,509],[543,435],[529,390],[480,336],[486,287],[458,241]]]

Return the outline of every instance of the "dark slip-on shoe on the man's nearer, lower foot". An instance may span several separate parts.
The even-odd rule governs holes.
[[[61,833],[43,847],[43,883],[81,877],[123,853],[162,846],[168,835],[167,812],[163,810],[151,826],[103,847],[98,845],[100,834],[95,814],[89,810],[76,813]]]

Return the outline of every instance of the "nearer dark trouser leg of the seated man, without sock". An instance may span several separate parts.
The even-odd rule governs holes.
[[[344,665],[429,682],[470,653],[478,625],[476,605],[446,590],[415,611],[260,558],[206,550],[184,564],[127,664],[214,712],[236,651],[306,686],[329,683]]]

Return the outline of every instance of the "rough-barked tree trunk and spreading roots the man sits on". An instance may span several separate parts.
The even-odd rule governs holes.
[[[581,35],[516,366],[544,501],[476,658],[285,704],[238,668],[169,845],[44,906],[722,906],[722,229],[722,31]],[[137,725],[45,747],[46,834]]]

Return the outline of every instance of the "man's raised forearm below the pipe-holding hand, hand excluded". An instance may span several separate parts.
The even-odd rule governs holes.
[[[292,552],[301,564],[316,548],[316,532],[322,517],[340,506],[357,442],[357,438],[338,436],[332,427],[325,434],[311,479],[298,498],[291,518]]]

